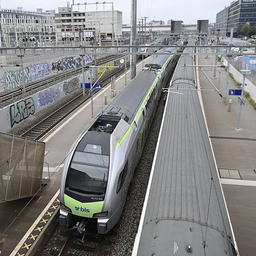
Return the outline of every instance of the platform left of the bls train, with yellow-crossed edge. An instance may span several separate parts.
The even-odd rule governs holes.
[[[143,65],[151,62],[152,59],[153,56],[149,56],[143,61]],[[142,70],[142,61],[137,64],[137,73],[140,70]],[[126,73],[126,84],[131,81],[129,78],[130,71],[128,70]],[[116,79],[116,90],[122,90],[124,87],[125,74]],[[111,101],[111,90],[107,89],[111,89],[111,84],[108,84],[101,90],[101,93],[93,97],[94,116],[105,107],[105,93],[107,93],[107,103]],[[9,227],[1,237],[1,239],[4,239],[1,256],[19,255],[18,252],[22,246],[25,247],[25,251],[29,250],[31,245],[27,244],[27,247],[24,246],[27,236],[37,227],[37,221],[43,218],[45,213],[47,214],[48,207],[51,204],[53,205],[57,198],[61,171],[67,152],[92,119],[91,103],[89,101],[41,139],[41,141],[46,143],[44,162],[50,166],[51,180],[49,184],[44,186],[41,194],[34,197],[30,203],[31,198],[24,198],[0,204],[0,234]],[[43,178],[44,176],[48,176],[48,172],[43,172]],[[20,213],[24,207],[26,208]],[[22,254],[20,253],[20,255]]]

